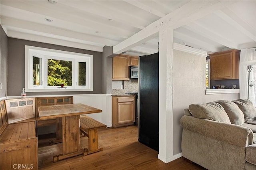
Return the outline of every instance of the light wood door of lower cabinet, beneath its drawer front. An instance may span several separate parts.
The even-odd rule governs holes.
[[[134,102],[117,103],[117,124],[134,122]]]

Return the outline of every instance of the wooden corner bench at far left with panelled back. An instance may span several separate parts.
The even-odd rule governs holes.
[[[30,99],[14,99],[10,102],[17,102],[17,105],[14,103],[10,105],[9,101],[6,102],[8,105],[5,105],[4,100],[0,101],[0,169],[7,170],[20,167],[22,169],[37,170],[38,138],[36,137],[36,121],[31,118],[30,110],[33,109],[31,105],[34,105],[34,103],[31,104]],[[26,105],[24,105],[24,101]],[[27,107],[27,104],[30,106]],[[8,119],[6,108],[13,109],[10,112],[10,119]],[[16,111],[19,113],[16,114]],[[26,113],[28,113],[27,119]],[[15,117],[17,120],[14,119]],[[12,123],[8,123],[9,120]],[[20,123],[20,120],[22,123]]]

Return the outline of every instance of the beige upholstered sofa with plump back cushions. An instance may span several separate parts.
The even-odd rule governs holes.
[[[250,100],[192,104],[180,125],[188,160],[209,170],[256,170],[256,108]]]

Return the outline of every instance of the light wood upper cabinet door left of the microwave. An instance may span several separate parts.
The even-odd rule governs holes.
[[[117,56],[113,58],[114,80],[129,80],[129,62],[130,57]]]

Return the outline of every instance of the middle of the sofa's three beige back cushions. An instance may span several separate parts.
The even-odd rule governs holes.
[[[222,105],[222,107],[228,114],[229,120],[232,124],[244,124],[244,113],[239,109],[239,107],[234,102],[228,100],[218,100],[214,102]]]

